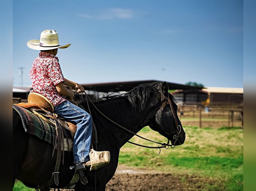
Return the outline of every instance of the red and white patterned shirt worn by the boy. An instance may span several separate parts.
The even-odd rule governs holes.
[[[58,57],[50,53],[40,52],[29,73],[33,87],[31,92],[45,96],[53,106],[66,100],[57,92],[55,87],[60,82],[65,82],[58,61]]]

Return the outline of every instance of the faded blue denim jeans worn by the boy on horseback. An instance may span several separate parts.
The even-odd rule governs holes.
[[[54,106],[54,113],[77,124],[73,145],[74,163],[90,160],[89,151],[92,140],[91,115],[70,101],[63,101]]]

